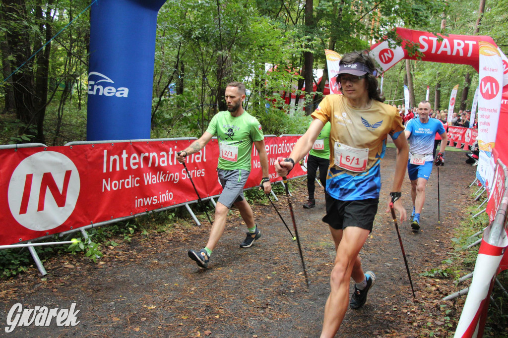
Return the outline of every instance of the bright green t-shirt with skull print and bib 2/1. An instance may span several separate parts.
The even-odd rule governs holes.
[[[265,138],[257,118],[245,111],[238,117],[228,111],[218,112],[206,131],[219,141],[219,169],[250,171],[252,143]]]

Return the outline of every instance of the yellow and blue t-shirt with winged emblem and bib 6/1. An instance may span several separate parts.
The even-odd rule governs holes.
[[[396,139],[404,131],[397,109],[377,100],[358,109],[343,95],[331,94],[311,116],[331,123],[327,192],[340,200],[377,198],[387,135]]]

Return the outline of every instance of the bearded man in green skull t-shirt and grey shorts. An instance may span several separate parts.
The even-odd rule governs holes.
[[[252,143],[259,152],[263,171],[263,189],[270,193],[272,186],[268,178],[268,155],[261,124],[249,115],[242,107],[245,99],[245,86],[240,82],[231,82],[226,86],[227,112],[218,112],[210,121],[208,128],[199,140],[193,142],[185,150],[178,153],[177,159],[183,163],[185,157],[203,149],[214,135],[219,141],[219,159],[217,175],[223,192],[215,207],[215,220],[210,230],[206,246],[200,251],[189,250],[188,256],[201,267],[208,267],[213,249],[223,235],[226,216],[232,205],[238,208],[240,216],[247,225],[247,236],[240,244],[241,248],[249,248],[261,237],[252,209],[243,197],[243,187],[250,173],[250,153]]]

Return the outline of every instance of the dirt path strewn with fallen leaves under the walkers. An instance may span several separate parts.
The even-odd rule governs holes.
[[[453,228],[465,215],[470,202],[468,185],[475,167],[464,162],[464,153],[448,152],[439,169],[440,219],[437,223],[437,171],[427,184],[427,200],[420,232],[409,223],[399,224],[417,294],[411,289],[395,227],[385,213],[392,185],[395,149],[383,161],[383,189],[374,229],[361,252],[365,269],[376,273],[377,282],[366,305],[348,310],[337,336],[373,337],[453,336],[461,306],[441,298],[455,292],[452,280],[419,276],[451,256]],[[324,193],[316,188],[316,208],[301,207],[306,199],[305,182],[295,188],[294,208],[299,226],[310,287],[302,274],[296,242],[280,222],[273,207],[253,209],[262,238],[249,249],[240,249],[244,225],[237,212],[228,217],[223,238],[210,260],[199,268],[187,257],[190,248],[201,248],[208,226],[185,228],[176,224],[172,233],[137,235],[131,243],[103,248],[100,263],[82,256],[65,255],[45,262],[49,272],[41,279],[35,268],[19,278],[2,281],[0,303],[7,313],[20,302],[26,308],[69,308],[76,302],[80,323],[75,327],[18,327],[7,336],[161,336],[161,337],[317,337],[321,331],[324,304],[334,247],[324,215]],[[410,185],[405,179],[403,203],[410,213]],[[291,227],[284,196],[275,202]],[[463,300],[458,300],[460,303]],[[441,309],[441,305],[446,308]],[[452,310],[445,318],[445,309]],[[458,309],[458,310],[456,310]],[[458,311],[459,313],[456,313]],[[0,326],[2,326],[0,325]],[[453,330],[450,329],[450,330]]]

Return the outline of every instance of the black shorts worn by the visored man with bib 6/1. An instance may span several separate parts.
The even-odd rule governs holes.
[[[323,217],[323,222],[337,230],[357,226],[372,231],[379,198],[338,200],[328,194],[325,198],[326,216]]]

